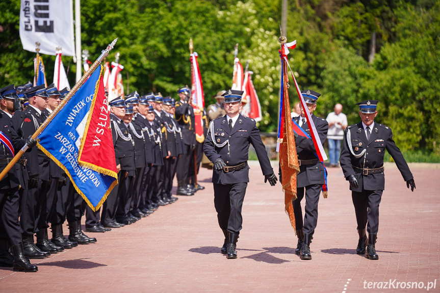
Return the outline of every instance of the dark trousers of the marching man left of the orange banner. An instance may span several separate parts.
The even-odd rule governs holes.
[[[241,209],[246,194],[246,182],[214,184],[214,206],[222,230],[238,233],[242,229]]]

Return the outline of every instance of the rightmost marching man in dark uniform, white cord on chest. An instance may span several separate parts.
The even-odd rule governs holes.
[[[345,129],[340,155],[344,176],[350,182],[356,214],[359,235],[356,253],[364,254],[367,250],[366,257],[369,259],[379,259],[375,244],[379,229],[379,203],[385,188],[385,149],[396,162],[407,188],[411,187],[411,191],[416,188],[408,164],[393,140],[391,128],[374,121],[377,102],[367,100],[357,103],[361,121]]]

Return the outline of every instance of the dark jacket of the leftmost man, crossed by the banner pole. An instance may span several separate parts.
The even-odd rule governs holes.
[[[24,146],[25,141],[17,135],[17,132],[15,132],[14,128],[12,128],[12,123],[9,116],[3,114],[3,111],[0,113],[0,130],[11,140],[15,153],[17,153]],[[12,154],[5,147],[5,145],[1,143],[0,159],[3,160],[7,158],[12,158]],[[0,164],[0,172],[3,171],[7,165],[8,164]],[[23,169],[20,171],[21,168]],[[15,188],[20,184],[22,188],[27,188],[27,181],[29,177],[26,177],[26,180],[23,180],[23,175],[28,175],[25,167],[16,163],[15,166],[12,167],[8,173],[6,173],[2,181],[0,181],[0,189]]]

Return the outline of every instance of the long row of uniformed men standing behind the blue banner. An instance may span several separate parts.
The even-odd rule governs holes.
[[[190,196],[204,189],[195,182],[203,143],[196,141],[191,90],[180,88],[178,101],[160,93],[140,96],[135,91],[109,102],[118,184],[102,212],[93,211],[61,167],[35,147],[37,141],[31,138],[68,92],[67,88],[58,91],[54,84],[0,89],[0,138],[9,138],[15,153],[24,144],[29,147],[0,181],[0,267],[36,272],[38,268],[29,259],[95,243],[96,238],[82,231],[84,215],[88,232],[106,232],[139,221],[177,200],[171,193],[175,175],[177,195]],[[206,136],[208,118],[201,111]],[[13,157],[3,141],[0,171]],[[63,231],[66,220],[68,237]]]

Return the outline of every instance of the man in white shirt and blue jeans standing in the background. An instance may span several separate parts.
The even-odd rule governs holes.
[[[342,113],[342,105],[335,104],[334,112],[327,115],[328,122],[328,155],[330,157],[330,167],[338,167],[339,153],[341,152],[341,142],[344,139],[344,130],[347,127],[347,116]]]

